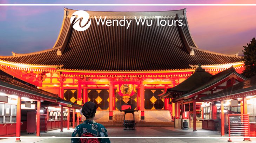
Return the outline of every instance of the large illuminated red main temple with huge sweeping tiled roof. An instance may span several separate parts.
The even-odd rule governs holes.
[[[175,106],[171,98],[160,99],[158,95],[190,77],[198,64],[208,76],[231,66],[237,73],[243,70],[243,59],[237,54],[221,54],[197,47],[186,9],[87,11],[91,25],[85,31],[76,31],[70,24],[75,11],[64,9],[61,30],[52,48],[0,56],[0,69],[63,100],[79,105],[93,101],[98,107],[96,114],[104,119],[102,122],[123,120],[118,117],[119,110],[125,110],[123,105],[139,110],[134,113],[136,121],[149,121],[150,113],[164,113],[171,121]],[[97,26],[95,16],[106,16],[110,20],[126,16],[133,21],[128,29],[117,25]],[[157,23],[155,16],[161,16],[160,20],[182,20],[185,24],[142,26],[135,21],[135,17],[140,16],[153,23]]]

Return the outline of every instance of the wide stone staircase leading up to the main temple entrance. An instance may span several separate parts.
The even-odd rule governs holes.
[[[168,110],[146,110],[145,120],[140,120],[141,111],[134,112],[136,127],[174,127],[171,115]],[[106,127],[122,127],[124,112],[113,111],[113,120],[109,120],[108,111],[96,112],[94,120]],[[131,113],[126,114],[126,120],[133,120]]]

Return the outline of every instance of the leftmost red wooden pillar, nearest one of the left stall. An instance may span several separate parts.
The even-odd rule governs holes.
[[[21,125],[21,97],[17,98],[17,115],[16,115],[16,137],[20,137]],[[20,138],[16,138],[16,142],[20,142]]]

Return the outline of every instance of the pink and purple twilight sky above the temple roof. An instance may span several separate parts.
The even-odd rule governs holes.
[[[50,2],[50,3],[49,3]],[[0,4],[256,4],[255,0],[0,0]],[[0,6],[0,55],[52,48],[58,37],[63,8],[96,11],[161,11],[187,8],[192,36],[199,48],[242,55],[256,37],[256,6]]]

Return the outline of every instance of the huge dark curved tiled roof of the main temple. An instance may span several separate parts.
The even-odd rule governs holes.
[[[91,25],[76,31],[70,25],[75,10],[64,9],[60,35],[52,49],[0,57],[0,60],[27,65],[59,66],[82,71],[166,71],[191,69],[191,65],[222,65],[242,62],[242,57],[197,48],[191,37],[186,9],[163,12],[93,12]],[[94,16],[133,19],[130,27],[96,25]],[[152,26],[137,26],[134,16],[147,16]],[[160,20],[183,20],[186,26],[157,26]],[[57,55],[60,49],[62,55]],[[195,55],[190,55],[194,49]]]

